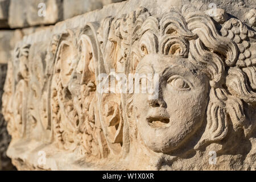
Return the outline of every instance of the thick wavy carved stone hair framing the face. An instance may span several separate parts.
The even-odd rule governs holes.
[[[207,125],[196,148],[224,139],[228,118],[235,131],[242,127],[246,136],[250,134],[245,124],[244,105],[256,105],[255,55],[245,60],[248,64],[241,64],[237,43],[221,35],[210,16],[183,6],[181,13],[171,10],[157,19],[147,9],[140,8],[125,18],[113,20],[112,24],[115,25],[114,37],[125,52],[123,55],[129,55],[125,57],[126,73],[134,72],[144,55],[162,54],[188,58],[209,77]],[[133,24],[133,28],[125,28],[127,24],[130,27]],[[221,32],[225,32],[225,28],[224,24]],[[254,32],[245,25],[240,25],[240,29],[254,38]],[[250,42],[249,38],[246,40]],[[127,101],[127,110],[131,101],[132,98]]]

